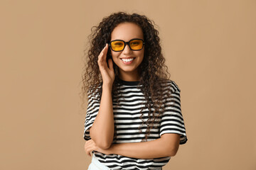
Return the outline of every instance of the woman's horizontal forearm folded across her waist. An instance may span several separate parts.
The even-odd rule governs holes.
[[[149,142],[114,144],[109,149],[110,154],[119,154],[138,159],[173,157],[176,152],[177,148],[171,147],[162,138]]]

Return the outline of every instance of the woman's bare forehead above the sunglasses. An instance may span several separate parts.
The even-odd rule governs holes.
[[[111,40],[129,41],[133,38],[143,39],[142,28],[135,23],[120,23],[111,33]]]

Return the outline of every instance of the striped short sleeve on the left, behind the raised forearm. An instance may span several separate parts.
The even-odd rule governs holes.
[[[97,96],[95,96],[95,94],[92,93],[88,93],[87,98],[88,104],[85,117],[85,129],[83,138],[85,140],[90,140],[91,138],[89,129],[92,127],[92,124],[94,123],[97,113],[99,112],[100,101],[97,99]]]

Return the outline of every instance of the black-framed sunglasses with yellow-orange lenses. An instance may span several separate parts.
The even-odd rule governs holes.
[[[111,50],[113,50],[114,52],[120,52],[124,50],[124,47],[126,45],[128,45],[129,48],[133,51],[139,51],[142,50],[144,44],[145,42],[142,39],[137,38],[129,40],[129,42],[125,42],[124,40],[112,40],[109,43]]]

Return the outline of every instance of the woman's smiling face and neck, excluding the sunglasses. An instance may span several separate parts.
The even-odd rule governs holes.
[[[144,40],[142,28],[135,23],[120,23],[111,33],[112,40],[124,40],[128,42],[134,38]],[[124,47],[123,51],[114,52],[111,50],[112,59],[119,67],[119,78],[126,81],[138,81],[138,66],[142,63],[144,57],[144,47],[142,50],[133,51],[129,45]],[[125,62],[122,59],[133,59],[131,62]],[[129,60],[128,60],[129,61]]]

